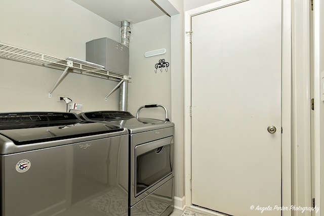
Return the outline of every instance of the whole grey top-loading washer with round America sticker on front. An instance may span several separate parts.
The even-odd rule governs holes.
[[[4,216],[128,214],[124,128],[74,113],[0,113],[0,154]]]

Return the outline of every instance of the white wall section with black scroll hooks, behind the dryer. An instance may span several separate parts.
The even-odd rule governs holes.
[[[132,81],[128,87],[128,111],[136,115],[142,105],[161,104],[171,114],[171,46],[170,17],[161,16],[131,26],[130,39],[130,75]],[[164,55],[144,57],[148,51],[166,49]],[[155,64],[165,59],[170,63],[168,71],[157,69]],[[165,119],[165,112],[160,108],[150,108],[141,111],[140,116]]]

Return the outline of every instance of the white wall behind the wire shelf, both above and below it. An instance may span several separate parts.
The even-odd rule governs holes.
[[[0,1],[0,42],[60,58],[86,60],[86,42],[109,37],[119,41],[120,29],[70,0]],[[63,71],[0,59],[0,112],[65,111],[57,95],[68,95],[83,111],[118,108],[119,91],[108,101],[115,81],[68,73],[48,93]]]

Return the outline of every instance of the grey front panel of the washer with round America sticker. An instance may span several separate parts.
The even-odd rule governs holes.
[[[117,192],[118,209],[127,213],[128,154],[123,135],[1,156],[2,213],[107,215],[113,209],[102,207]],[[25,160],[28,170],[18,172]]]

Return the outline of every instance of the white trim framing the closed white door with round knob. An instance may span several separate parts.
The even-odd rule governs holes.
[[[191,204],[191,55],[190,55],[190,31],[191,16],[208,12],[226,5],[232,5],[238,0],[222,0],[206,6],[186,11],[184,14],[184,85],[185,85],[185,205],[193,207]],[[281,136],[281,166],[282,166],[282,206],[292,205],[292,157],[291,157],[291,134],[292,134],[292,2],[282,1],[282,128]],[[282,211],[283,216],[291,215],[291,211]]]

